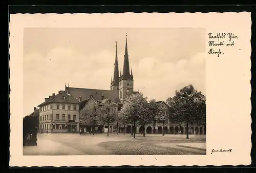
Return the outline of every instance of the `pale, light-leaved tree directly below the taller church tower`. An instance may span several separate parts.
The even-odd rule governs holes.
[[[135,138],[135,124],[140,120],[143,112],[145,98],[142,93],[133,94],[125,99],[120,111],[121,119],[128,124],[133,124],[133,136]]]

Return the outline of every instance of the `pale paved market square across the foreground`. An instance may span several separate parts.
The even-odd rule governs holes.
[[[24,155],[205,155],[205,135],[38,134]]]

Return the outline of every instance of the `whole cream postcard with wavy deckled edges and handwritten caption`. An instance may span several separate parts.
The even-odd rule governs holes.
[[[251,163],[251,18],[10,16],[10,166]]]

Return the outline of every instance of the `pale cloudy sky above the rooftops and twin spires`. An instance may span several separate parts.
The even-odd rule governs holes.
[[[134,91],[158,101],[193,84],[205,94],[203,28],[25,28],[24,116],[65,83],[110,90],[115,41],[120,73],[126,33]]]

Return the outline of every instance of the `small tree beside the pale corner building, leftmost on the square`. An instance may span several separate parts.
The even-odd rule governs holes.
[[[99,111],[99,108],[97,106],[93,106],[93,108],[90,110],[82,110],[80,112],[79,119],[81,123],[92,126],[93,135],[94,135],[95,125],[101,124],[100,114],[101,112]]]

